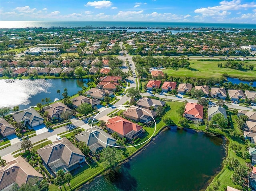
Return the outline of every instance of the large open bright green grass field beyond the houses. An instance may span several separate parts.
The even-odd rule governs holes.
[[[232,77],[256,77],[256,61],[244,61],[244,68],[246,68],[246,65],[254,65],[254,69],[244,69],[243,71],[224,67],[220,68],[218,67],[218,63],[222,63],[224,66],[226,61],[190,60],[190,66],[188,68],[165,69],[163,72],[170,76],[179,77],[219,78],[223,73],[227,73]]]

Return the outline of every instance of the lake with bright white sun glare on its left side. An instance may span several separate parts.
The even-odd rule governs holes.
[[[0,106],[13,107],[20,106],[20,109],[35,106],[41,102],[42,98],[50,98],[52,101],[60,99],[64,93],[64,88],[68,89],[68,95],[72,96],[87,86],[87,79],[81,82],[78,79],[36,79],[19,80],[14,83],[6,83],[6,80],[0,80]]]

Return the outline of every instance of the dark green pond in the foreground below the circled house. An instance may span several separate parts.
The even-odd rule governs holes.
[[[80,191],[200,191],[220,170],[224,140],[193,130],[161,132],[140,154]]]

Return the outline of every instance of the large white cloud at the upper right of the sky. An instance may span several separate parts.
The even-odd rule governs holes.
[[[246,8],[256,7],[254,2],[250,4],[240,4],[240,0],[232,0],[232,1],[222,1],[219,6],[207,7],[207,8],[199,8],[194,10],[195,13],[202,14],[203,17],[206,16],[224,16],[229,15],[230,12],[228,10],[240,10]]]

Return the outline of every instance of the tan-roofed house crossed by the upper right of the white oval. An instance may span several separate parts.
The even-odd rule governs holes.
[[[130,107],[123,112],[124,117],[140,122],[150,122],[152,117],[155,118],[156,112],[149,109]]]

